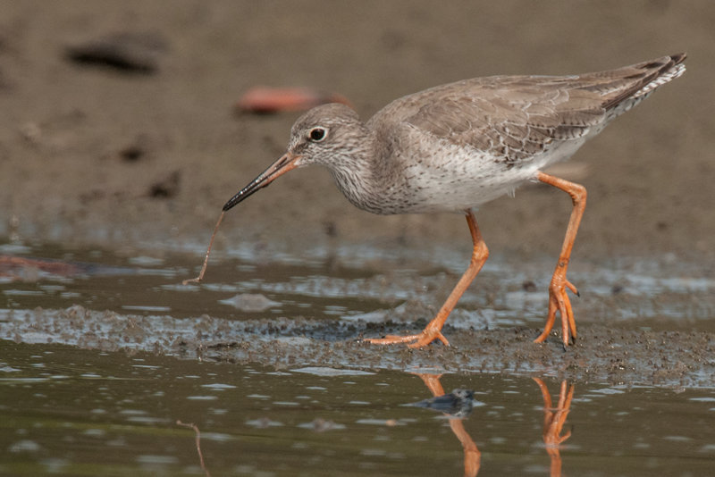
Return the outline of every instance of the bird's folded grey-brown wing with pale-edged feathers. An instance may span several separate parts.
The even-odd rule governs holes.
[[[517,163],[597,132],[682,73],[677,64],[684,59],[677,54],[577,76],[467,79],[405,96],[383,112],[400,111],[419,130]]]

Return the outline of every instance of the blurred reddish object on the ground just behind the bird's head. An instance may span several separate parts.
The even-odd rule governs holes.
[[[324,93],[313,88],[270,88],[259,86],[250,88],[240,97],[236,107],[247,113],[281,113],[284,111],[305,111],[326,103],[349,105],[345,96]]]

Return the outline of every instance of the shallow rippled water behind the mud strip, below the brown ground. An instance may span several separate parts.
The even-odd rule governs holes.
[[[405,306],[433,314],[465,267],[465,257],[442,252],[410,262],[402,252],[375,255],[343,251],[309,259],[271,261],[220,255],[200,284],[181,285],[198,272],[197,257],[156,252],[117,255],[106,250],[57,247],[0,247],[0,293],[10,310],[83,305],[117,313],[191,318],[201,314],[242,320],[310,316],[322,320],[383,322]],[[218,255],[218,254],[214,254]],[[41,257],[42,263],[4,264],[3,257]],[[447,268],[445,268],[447,267]],[[492,257],[450,315],[457,328],[543,324],[551,258],[527,262]],[[620,259],[572,264],[569,277],[580,285],[573,300],[579,321],[601,313],[629,328],[715,331],[715,279],[704,264]],[[251,301],[252,295],[259,302]],[[246,302],[245,299],[249,301]],[[595,319],[595,318],[594,318]],[[600,319],[600,318],[598,318]]]

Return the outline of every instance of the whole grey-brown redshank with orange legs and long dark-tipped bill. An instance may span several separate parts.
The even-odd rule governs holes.
[[[489,255],[474,210],[527,180],[549,184],[568,193],[573,209],[549,285],[546,323],[535,341],[549,336],[558,313],[567,347],[576,339],[567,289],[578,292],[566,274],[586,190],[542,170],[568,159],[618,115],[680,76],[685,59],[673,54],[570,76],[466,79],[400,97],[367,122],[348,105],[320,105],[293,124],[285,155],[231,197],[223,212],[282,174],[319,164],[353,205],[368,212],[465,213],[471,261],[437,315],[420,333],[366,339],[411,347],[439,339],[449,345],[442,326]]]

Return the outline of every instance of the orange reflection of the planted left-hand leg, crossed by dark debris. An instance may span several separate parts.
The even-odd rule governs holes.
[[[446,394],[440,382],[442,374],[416,373],[416,375],[425,382],[427,388],[432,392],[433,398],[425,399],[413,406],[434,409],[450,417],[450,428],[464,449],[464,475],[465,477],[475,477],[479,473],[482,453],[476,448],[475,441],[469,436],[464,428],[464,423],[462,423],[462,420],[472,412],[474,391],[455,389],[450,394]]]

